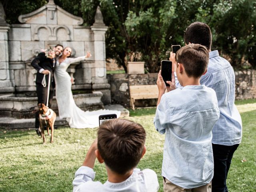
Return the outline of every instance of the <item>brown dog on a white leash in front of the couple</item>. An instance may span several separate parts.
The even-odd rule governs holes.
[[[38,104],[39,108],[39,122],[41,129],[41,137],[43,138],[43,143],[45,143],[45,135],[44,135],[44,126],[46,126],[47,133],[49,135],[49,128],[51,128],[51,143],[53,142],[53,130],[54,130],[54,122],[56,120],[56,113],[45,106],[45,104]]]

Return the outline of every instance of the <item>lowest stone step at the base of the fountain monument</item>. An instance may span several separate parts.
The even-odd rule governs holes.
[[[124,108],[122,105],[114,104],[114,105],[106,105],[104,106],[105,109],[109,110],[119,110],[121,111],[121,118],[126,118],[129,116],[129,111]],[[54,126],[67,126],[68,122],[65,119],[60,119],[57,117]],[[10,118],[10,117],[0,117],[0,127],[4,129],[27,129],[27,128],[34,128],[35,127],[35,119],[28,118],[28,119],[17,119],[17,118]]]

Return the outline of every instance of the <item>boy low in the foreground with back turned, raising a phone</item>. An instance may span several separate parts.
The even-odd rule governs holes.
[[[73,192],[157,192],[156,173],[135,168],[146,152],[145,140],[146,132],[138,123],[120,118],[103,122],[75,173]],[[93,181],[96,157],[105,162],[108,180],[104,184]]]

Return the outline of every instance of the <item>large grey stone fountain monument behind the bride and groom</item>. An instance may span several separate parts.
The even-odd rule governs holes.
[[[20,24],[6,24],[0,2],[0,116],[32,118],[31,108],[37,104],[36,70],[32,59],[41,49],[56,44],[74,49],[74,57],[90,51],[90,60],[71,64],[75,78],[72,90],[76,104],[83,110],[104,108],[111,103],[110,84],[106,77],[105,33],[100,7],[92,26],[83,26],[83,19],[74,16],[49,0],[48,4],[18,17]],[[57,111],[56,100],[52,108]],[[33,120],[34,121],[34,120]]]

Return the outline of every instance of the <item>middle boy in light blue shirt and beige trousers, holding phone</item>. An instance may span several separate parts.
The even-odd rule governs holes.
[[[189,44],[176,53],[176,74],[183,89],[158,73],[155,128],[166,134],[162,164],[164,191],[210,192],[213,177],[212,128],[220,116],[216,93],[200,85],[207,72],[206,47]],[[164,94],[167,89],[167,93]]]

